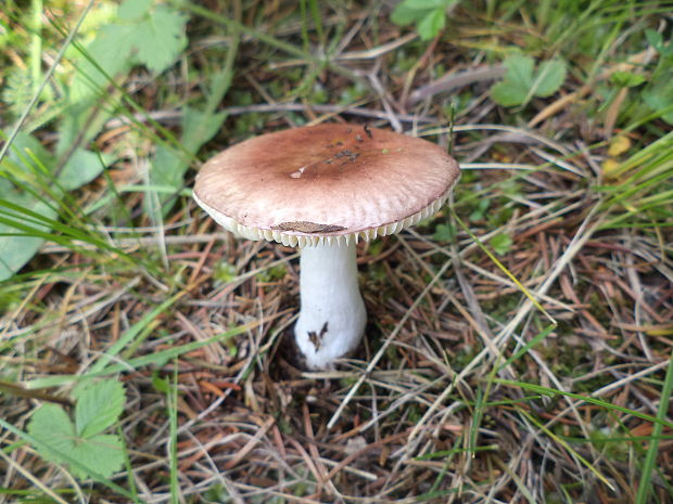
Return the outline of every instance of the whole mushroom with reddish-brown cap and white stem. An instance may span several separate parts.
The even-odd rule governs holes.
[[[426,140],[322,124],[227,148],[200,170],[193,194],[225,229],[301,248],[296,345],[309,367],[329,369],[365,331],[355,245],[434,215],[459,175]]]

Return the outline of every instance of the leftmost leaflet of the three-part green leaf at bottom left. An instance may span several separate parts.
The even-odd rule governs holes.
[[[35,448],[47,461],[62,462],[60,455],[72,453],[75,448],[75,426],[56,404],[45,404],[33,414],[28,434],[38,441]]]

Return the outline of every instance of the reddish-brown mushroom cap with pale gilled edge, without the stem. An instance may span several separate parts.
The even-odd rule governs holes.
[[[284,245],[396,233],[436,212],[460,176],[439,145],[322,124],[245,140],[200,170],[194,199],[225,229]]]

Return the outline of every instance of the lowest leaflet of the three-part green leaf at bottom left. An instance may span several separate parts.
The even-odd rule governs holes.
[[[93,436],[75,445],[71,456],[81,465],[105,478],[110,478],[124,465],[124,445],[118,436]],[[79,478],[86,478],[88,473],[71,465],[71,470]]]

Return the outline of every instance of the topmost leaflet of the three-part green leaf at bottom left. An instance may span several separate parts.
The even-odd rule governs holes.
[[[124,386],[114,379],[97,382],[77,392],[76,432],[87,439],[112,426],[124,410]]]

